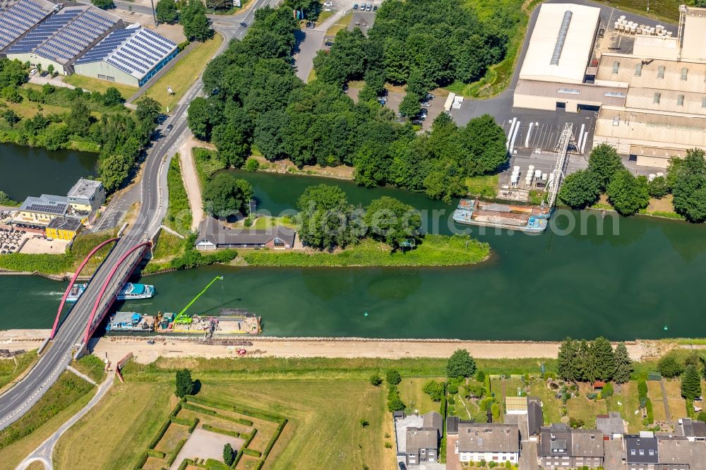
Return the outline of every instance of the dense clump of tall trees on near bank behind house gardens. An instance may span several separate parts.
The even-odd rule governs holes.
[[[614,350],[604,337],[591,342],[567,338],[559,347],[557,359],[559,376],[570,381],[625,383],[633,370],[625,344],[619,343]]]

